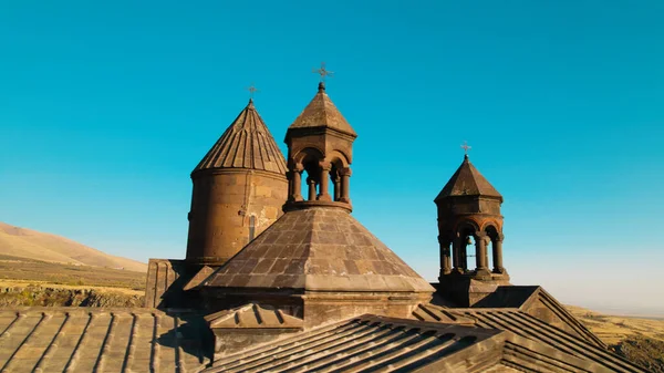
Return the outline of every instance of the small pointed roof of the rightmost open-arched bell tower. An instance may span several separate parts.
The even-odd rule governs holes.
[[[452,196],[486,196],[502,199],[498,190],[473,166],[467,155],[435,201]]]

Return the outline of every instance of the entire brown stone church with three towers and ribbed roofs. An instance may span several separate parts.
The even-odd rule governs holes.
[[[0,372],[644,372],[510,283],[502,196],[467,155],[423,279],[351,214],[356,137],[320,83],[284,157],[250,100],[194,168],[186,258],[151,259],[145,308],[2,311]]]

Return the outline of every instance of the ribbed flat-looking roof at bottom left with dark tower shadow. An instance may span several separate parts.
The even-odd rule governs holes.
[[[157,310],[1,310],[0,371],[198,371],[209,364],[208,333],[203,318]]]

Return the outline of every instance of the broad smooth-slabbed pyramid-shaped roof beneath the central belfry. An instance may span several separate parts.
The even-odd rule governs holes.
[[[288,211],[210,276],[205,286],[434,291],[346,210],[326,207]]]

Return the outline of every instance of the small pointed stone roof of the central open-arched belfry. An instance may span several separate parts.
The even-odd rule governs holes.
[[[353,127],[341,115],[328,93],[325,93],[325,84],[319,83],[319,91],[313,96],[313,100],[304,107],[302,113],[295,118],[293,124],[288,127],[293,128],[314,128],[328,127],[333,128],[352,136],[357,136]]]

